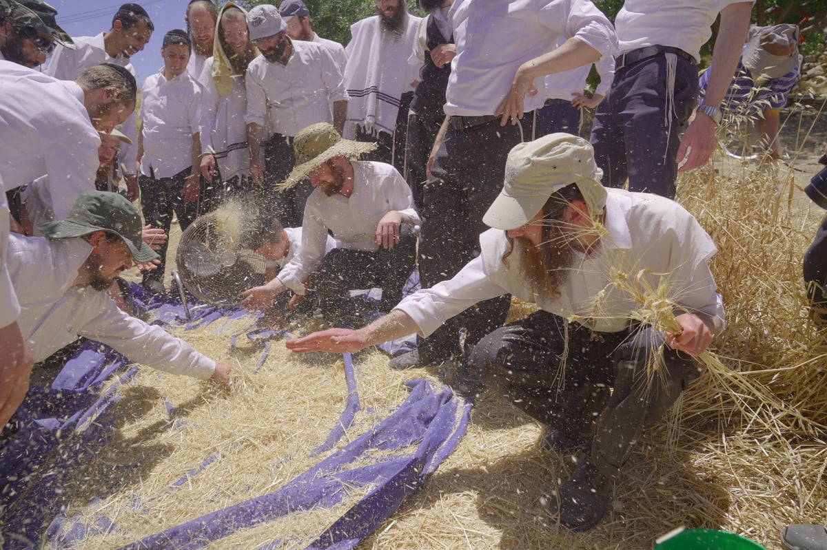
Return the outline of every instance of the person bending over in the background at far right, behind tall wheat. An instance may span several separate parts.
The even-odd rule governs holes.
[[[754,121],[761,132],[762,146],[772,159],[782,154],[778,140],[781,109],[801,78],[799,37],[797,25],[750,28],[741,60],[720,106],[728,113]],[[701,94],[706,92],[709,82],[710,71],[705,71],[700,75]]]

